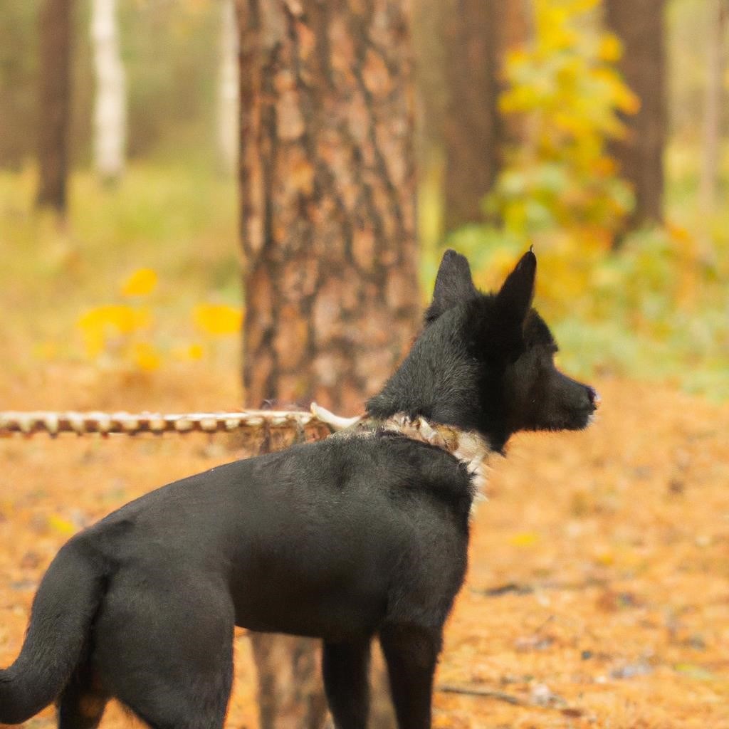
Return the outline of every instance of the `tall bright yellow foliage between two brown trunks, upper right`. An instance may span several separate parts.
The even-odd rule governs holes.
[[[597,5],[535,0],[534,39],[507,54],[499,109],[521,117],[524,139],[507,155],[486,208],[530,241],[547,230],[586,230],[609,244],[633,204],[606,149],[624,133],[618,112],[632,114],[640,102],[611,65],[620,42],[582,17]]]

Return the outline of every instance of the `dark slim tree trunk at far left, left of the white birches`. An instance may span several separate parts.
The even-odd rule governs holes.
[[[39,16],[40,98],[36,204],[66,211],[73,0],[44,0]]]

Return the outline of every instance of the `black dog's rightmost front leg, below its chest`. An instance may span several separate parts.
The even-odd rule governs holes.
[[[391,625],[380,631],[399,729],[430,729],[433,674],[442,631]]]

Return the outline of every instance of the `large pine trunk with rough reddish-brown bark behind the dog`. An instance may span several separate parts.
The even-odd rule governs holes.
[[[361,412],[420,309],[409,18],[401,0],[238,0],[238,18],[246,401]],[[318,729],[313,644],[253,642],[262,729]]]

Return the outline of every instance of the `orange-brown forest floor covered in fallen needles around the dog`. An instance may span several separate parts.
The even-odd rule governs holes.
[[[235,407],[214,402],[232,381],[208,387],[207,399],[160,381],[157,406]],[[651,384],[597,386],[604,405],[588,432],[525,434],[493,461],[448,623],[437,728],[729,728],[729,407]],[[98,399],[93,385],[85,392],[77,407],[122,405]],[[127,408],[144,401],[133,386],[125,396]],[[0,386],[0,397],[6,408],[68,407],[52,378]],[[197,435],[37,436],[0,441],[0,459],[7,665],[70,534],[230,453]],[[227,726],[256,729],[248,639],[235,644]],[[129,723],[112,707],[103,726]],[[47,710],[26,726],[51,725]]]

